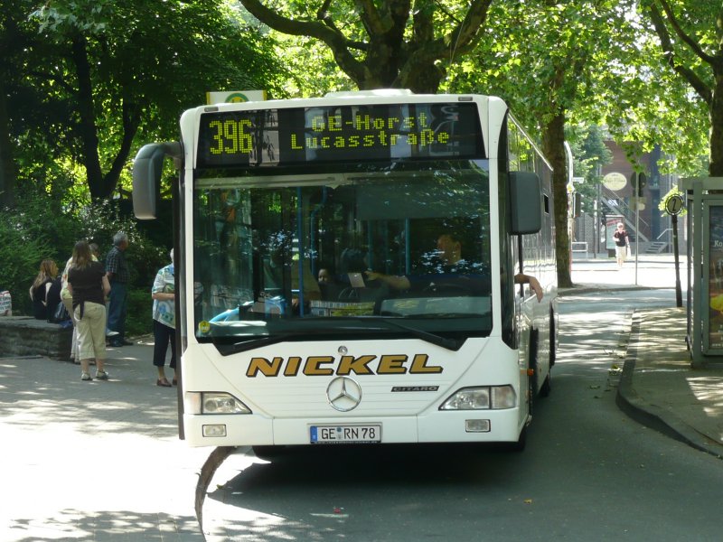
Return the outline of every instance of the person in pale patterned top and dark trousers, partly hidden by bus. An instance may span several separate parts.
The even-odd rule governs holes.
[[[161,267],[155,275],[151,297],[153,297],[153,364],[158,370],[156,386],[170,388],[171,383],[165,378],[165,352],[168,343],[171,343],[171,369],[174,369],[174,384],[176,378],[175,356],[175,269],[174,249],[171,249],[171,263]]]

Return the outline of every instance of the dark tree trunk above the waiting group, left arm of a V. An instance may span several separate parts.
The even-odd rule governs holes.
[[[86,41],[82,36],[73,38],[72,60],[78,75],[78,112],[80,114],[80,140],[82,161],[88,179],[90,197],[93,200],[107,198],[110,192],[103,186],[103,172],[98,154],[98,128],[93,107],[93,87],[90,81],[90,64]]]

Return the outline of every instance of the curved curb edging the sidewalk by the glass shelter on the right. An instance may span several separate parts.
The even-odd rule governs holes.
[[[718,459],[723,459],[723,447],[712,441],[706,435],[700,434],[694,427],[683,422],[670,410],[660,406],[650,405],[635,391],[633,376],[637,343],[640,332],[640,314],[633,314],[630,330],[630,342],[623,364],[623,375],[615,396],[615,404],[630,418],[639,424],[669,436],[681,443],[688,444],[701,452],[710,453]]]

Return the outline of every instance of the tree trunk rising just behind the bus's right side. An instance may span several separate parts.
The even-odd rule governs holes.
[[[555,202],[555,257],[558,285],[572,286],[570,276],[570,239],[568,235],[568,160],[565,154],[565,113],[558,112],[542,127],[542,146],[552,165],[552,195]]]

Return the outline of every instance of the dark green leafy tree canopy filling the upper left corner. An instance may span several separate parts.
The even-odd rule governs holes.
[[[80,164],[90,196],[108,198],[136,142],[176,137],[181,112],[206,91],[283,89],[270,40],[223,0],[168,0],[162,13],[142,0],[12,2],[0,18],[4,183],[8,161],[19,184],[76,177]]]

